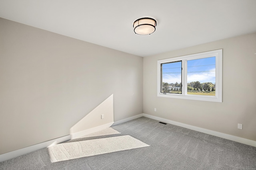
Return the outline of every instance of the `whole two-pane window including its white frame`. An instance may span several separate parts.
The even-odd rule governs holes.
[[[157,63],[157,96],[222,102],[222,49]]]

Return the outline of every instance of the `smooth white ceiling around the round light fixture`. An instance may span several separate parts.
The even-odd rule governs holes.
[[[146,57],[256,32],[256,0],[0,0],[0,17]],[[143,17],[153,34],[134,33]]]

